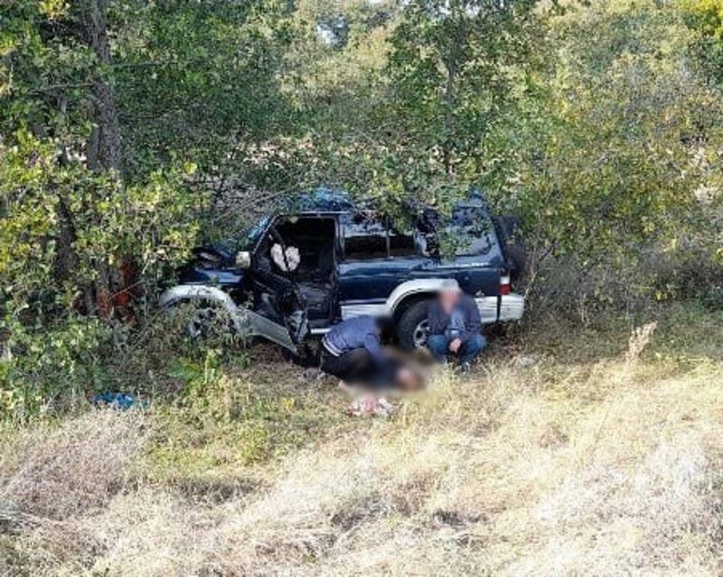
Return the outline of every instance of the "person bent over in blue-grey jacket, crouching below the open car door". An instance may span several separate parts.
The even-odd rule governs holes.
[[[385,317],[361,316],[339,323],[322,340],[322,370],[339,378],[341,386],[420,387],[412,371],[388,357],[381,347],[392,329],[393,322]]]

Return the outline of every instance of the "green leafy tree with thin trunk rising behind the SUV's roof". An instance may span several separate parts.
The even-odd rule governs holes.
[[[337,181],[390,210],[409,200],[444,209],[470,185],[499,177],[492,135],[521,102],[539,25],[533,6],[401,5],[385,26],[381,66],[368,76],[376,89],[362,91],[367,98],[352,108],[362,119],[344,126],[329,155]]]

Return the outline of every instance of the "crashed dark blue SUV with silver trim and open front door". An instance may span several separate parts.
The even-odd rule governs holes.
[[[161,305],[197,305],[192,335],[221,307],[233,330],[294,352],[311,335],[362,314],[393,317],[399,345],[422,346],[428,304],[448,278],[474,296],[483,323],[521,318],[524,298],[511,284],[524,268],[515,219],[492,218],[478,193],[448,218],[434,209],[414,214],[399,226],[373,203],[343,194],[299,197],[261,219],[239,247],[196,249],[183,284],[167,290]],[[452,253],[442,249],[446,243]],[[295,265],[279,266],[279,253],[293,255]]]

